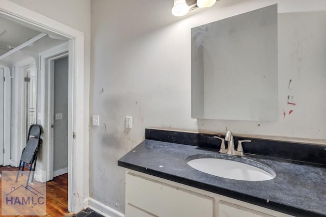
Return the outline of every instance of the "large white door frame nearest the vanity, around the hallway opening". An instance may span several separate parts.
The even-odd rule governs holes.
[[[86,141],[89,132],[84,130],[87,129],[85,119],[89,118],[84,112],[84,93],[89,92],[89,87],[84,85],[84,34],[9,0],[1,1],[0,16],[69,40],[68,210],[76,213],[87,207],[89,196],[89,143]]]

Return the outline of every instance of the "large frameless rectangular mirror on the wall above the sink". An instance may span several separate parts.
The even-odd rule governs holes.
[[[192,29],[192,118],[278,120],[277,30],[277,5]]]

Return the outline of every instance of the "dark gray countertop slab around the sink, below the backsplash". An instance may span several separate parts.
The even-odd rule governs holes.
[[[326,216],[324,165],[298,165],[291,160],[248,154],[243,158],[270,167],[276,177],[239,181],[193,169],[186,158],[196,154],[220,153],[198,146],[145,140],[119,159],[118,165],[295,216]]]

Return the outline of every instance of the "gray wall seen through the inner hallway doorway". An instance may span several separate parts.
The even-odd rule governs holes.
[[[53,171],[68,167],[68,57],[55,61],[55,120]]]

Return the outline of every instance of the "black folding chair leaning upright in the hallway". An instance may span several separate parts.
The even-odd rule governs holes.
[[[24,168],[27,168],[29,169],[29,172],[26,181],[26,187],[29,184],[31,171],[33,171],[31,182],[34,181],[37,153],[42,143],[41,133],[42,133],[42,127],[40,125],[38,124],[31,125],[29,129],[26,147],[22,150],[21,153],[18,172],[16,176],[16,182],[18,181],[19,173],[22,176],[24,174]]]

